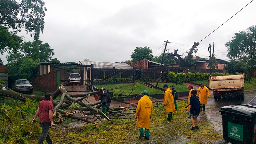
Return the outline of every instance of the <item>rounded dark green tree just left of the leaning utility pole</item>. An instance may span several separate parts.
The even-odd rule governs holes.
[[[143,59],[148,59],[148,60],[153,60],[154,55],[152,54],[152,50],[148,46],[144,47],[136,47],[136,49],[133,50],[131,58],[132,62],[138,61],[138,60],[143,60]]]

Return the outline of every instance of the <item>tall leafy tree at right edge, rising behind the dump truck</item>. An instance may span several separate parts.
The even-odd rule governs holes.
[[[235,33],[232,40],[228,41],[225,46],[228,48],[228,57],[231,59],[229,65],[231,72],[250,74],[250,64],[256,64],[255,49],[256,25],[247,28],[246,31]],[[252,49],[250,47],[250,37],[252,37]]]

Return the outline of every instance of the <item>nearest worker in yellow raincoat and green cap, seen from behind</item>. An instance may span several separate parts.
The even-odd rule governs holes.
[[[149,123],[153,113],[153,103],[152,100],[148,98],[148,91],[144,90],[141,93],[142,97],[138,102],[135,113],[135,117],[137,118],[136,125],[139,127],[140,131],[139,138],[145,137],[146,140],[149,140]],[[143,128],[145,128],[145,135]]]

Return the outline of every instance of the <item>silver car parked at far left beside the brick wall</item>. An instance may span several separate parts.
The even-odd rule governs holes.
[[[26,92],[32,94],[33,86],[27,79],[16,79],[14,83],[12,83],[12,90],[15,92]]]

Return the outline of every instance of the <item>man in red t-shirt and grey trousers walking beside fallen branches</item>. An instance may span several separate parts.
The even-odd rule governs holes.
[[[50,101],[52,99],[51,93],[45,93],[44,100],[42,100],[37,108],[35,118],[32,123],[36,122],[36,118],[39,115],[39,122],[42,126],[42,132],[38,140],[38,144],[43,144],[43,141],[46,139],[48,144],[52,144],[50,138],[50,127],[52,127],[52,110],[53,104]]]

